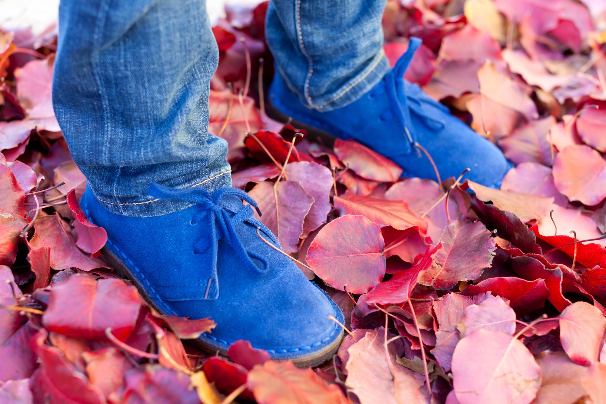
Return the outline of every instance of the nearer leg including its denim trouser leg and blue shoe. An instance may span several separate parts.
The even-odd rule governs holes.
[[[341,310],[276,251],[207,132],[218,49],[205,0],[63,0],[59,19],[53,99],[104,260],[162,314],[211,317],[205,349],[244,339],[299,365],[330,358]]]

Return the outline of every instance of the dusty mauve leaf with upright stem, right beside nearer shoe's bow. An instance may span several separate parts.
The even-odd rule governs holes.
[[[280,181],[276,184],[278,196],[278,206],[276,206],[273,187],[274,184],[264,181],[256,184],[248,195],[257,201],[263,214],[259,217],[255,213],[255,216],[278,237],[284,252],[290,254],[297,251],[299,237],[303,233],[303,221],[311,209],[313,198],[299,183]]]

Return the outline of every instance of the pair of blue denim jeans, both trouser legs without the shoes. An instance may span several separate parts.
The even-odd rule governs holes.
[[[275,0],[267,42],[301,102],[330,110],[389,69],[385,0]],[[227,143],[208,133],[219,52],[205,0],[62,0],[53,106],[72,157],[108,210],[155,216],[187,205],[147,187],[231,186]]]

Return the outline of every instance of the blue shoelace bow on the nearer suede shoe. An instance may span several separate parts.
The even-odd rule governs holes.
[[[261,216],[261,211],[259,210],[256,201],[243,190],[224,187],[216,190],[215,195],[211,195],[210,192],[202,187],[176,189],[153,183],[148,189],[148,192],[155,198],[175,199],[201,205],[201,212],[191,219],[191,224],[196,224],[204,218],[207,218],[208,226],[210,226],[211,231],[210,233],[207,233],[205,237],[200,238],[195,244],[194,254],[202,254],[202,252],[207,251],[209,247],[216,249],[219,240],[225,238],[225,241],[233,248],[238,257],[241,258],[242,263],[248,271],[253,273],[263,273],[267,271],[268,264],[265,258],[253,251],[247,250],[242,245],[238,233],[236,232],[236,226],[254,214],[251,206],[255,207],[259,216]],[[223,205],[224,202],[222,201],[223,198],[228,195],[238,197],[241,200],[246,201],[248,205],[242,206],[242,209],[238,210],[238,212],[231,214],[225,209]],[[258,268],[251,258],[261,261],[263,268]]]

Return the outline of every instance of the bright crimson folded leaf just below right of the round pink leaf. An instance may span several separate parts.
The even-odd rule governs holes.
[[[433,265],[433,255],[441,248],[442,244],[438,244],[436,247],[431,244],[428,245],[425,254],[418,263],[411,268],[396,272],[390,280],[381,282],[371,289],[366,295],[367,305],[372,307],[375,305],[401,305],[406,303],[417,284],[419,274],[427,271]]]

